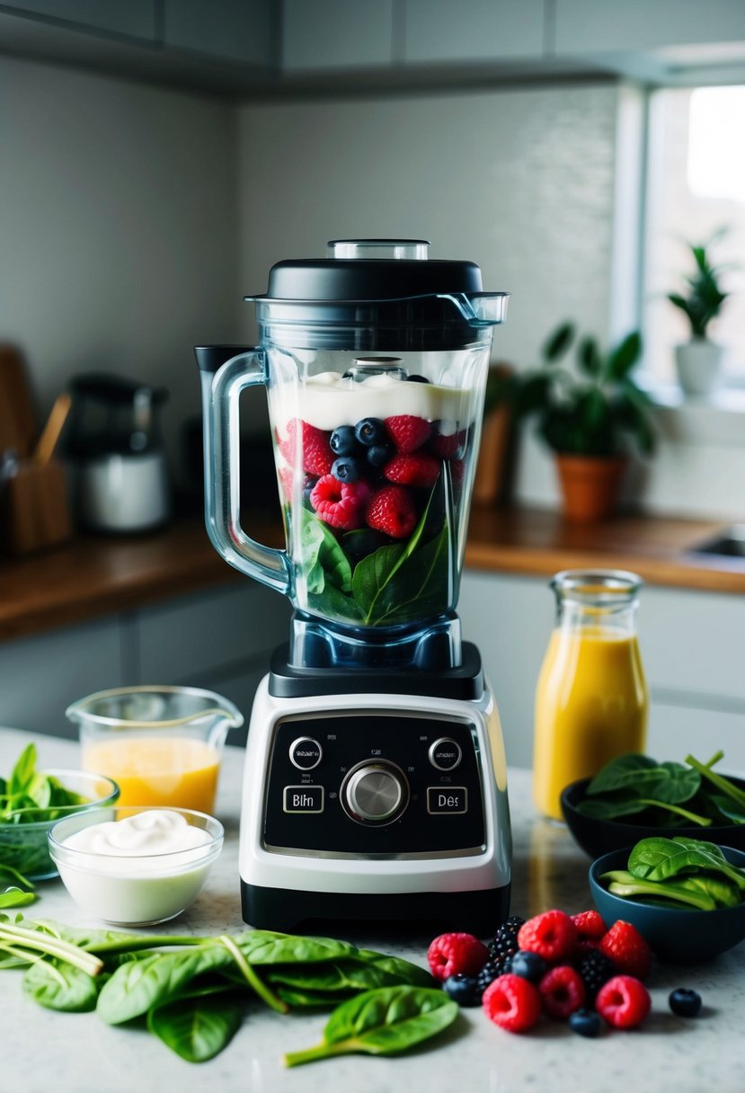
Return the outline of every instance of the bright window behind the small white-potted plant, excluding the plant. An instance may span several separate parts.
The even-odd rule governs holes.
[[[650,102],[643,329],[646,362],[661,383],[675,379],[673,348],[688,340],[685,316],[666,299],[684,287],[694,259],[687,243],[726,232],[711,249],[732,267],[732,293],[709,327],[725,349],[729,386],[745,387],[745,86],[655,91]]]

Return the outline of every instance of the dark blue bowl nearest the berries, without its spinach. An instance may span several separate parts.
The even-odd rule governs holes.
[[[679,907],[659,907],[612,895],[600,878],[611,869],[626,869],[630,850],[629,846],[604,854],[590,866],[590,891],[607,927],[619,918],[631,922],[647,938],[657,956],[678,964],[709,960],[745,938],[745,903],[719,910],[682,910]],[[741,869],[745,866],[742,850],[731,846],[722,846],[721,850],[732,865]]]

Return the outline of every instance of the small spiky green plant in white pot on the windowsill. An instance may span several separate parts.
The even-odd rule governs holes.
[[[687,244],[696,263],[693,275],[686,278],[688,291],[685,295],[673,292],[667,296],[690,324],[690,340],[675,346],[678,383],[686,395],[709,395],[720,376],[722,346],[710,341],[707,331],[729,293],[720,287],[721,267],[711,265],[707,247],[721,234],[717,232],[707,244]]]

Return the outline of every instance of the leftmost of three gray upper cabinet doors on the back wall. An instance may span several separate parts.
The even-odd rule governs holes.
[[[389,66],[394,0],[285,0],[285,73]]]

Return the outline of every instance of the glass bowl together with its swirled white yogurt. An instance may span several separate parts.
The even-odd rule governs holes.
[[[193,903],[224,837],[220,821],[203,812],[129,807],[68,816],[48,841],[82,910],[115,926],[154,926]]]

